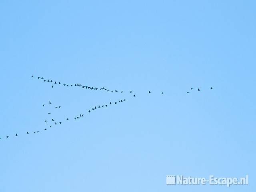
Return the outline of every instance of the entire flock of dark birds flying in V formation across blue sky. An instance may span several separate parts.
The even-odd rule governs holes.
[[[34,75],[32,75],[31,76],[31,78],[34,78],[35,76]],[[118,91],[118,90],[109,90],[109,89],[107,89],[107,88],[104,88],[104,87],[102,87],[102,88],[96,88],[96,87],[92,87],[92,86],[84,86],[84,85],[81,85],[80,83],[78,83],[78,84],[61,84],[60,82],[56,82],[56,81],[52,81],[52,80],[49,80],[49,79],[44,79],[43,77],[38,77],[38,80],[43,80],[44,82],[49,82],[49,83],[51,83],[51,87],[52,88],[54,88],[54,86],[55,85],[63,85],[63,86],[67,86],[67,87],[72,87],[72,86],[78,86],[78,87],[81,87],[81,88],[86,88],[86,89],[88,89],[88,90],[104,90],[104,91],[107,91],[107,92],[121,92],[121,93],[123,93],[124,91],[122,90],[122,91]],[[193,90],[194,88],[190,88],[190,90]],[[212,90],[213,88],[212,87],[210,87],[210,90]],[[198,91],[201,91],[200,90],[200,88],[198,88],[197,89]],[[132,92],[132,90],[130,90],[130,93],[133,95],[133,97],[136,97],[136,95],[135,94],[133,94],[133,92]],[[151,91],[149,91],[148,92],[148,94],[150,94],[150,93],[152,93]],[[187,94],[189,94],[190,92],[187,92]],[[161,92],[161,94],[164,94],[164,92]],[[96,110],[96,109],[99,109],[99,108],[106,108],[106,107],[108,107],[108,106],[110,106],[110,105],[116,105],[116,104],[118,104],[118,103],[121,103],[121,102],[125,102],[125,101],[127,101],[126,99],[123,99],[123,100],[118,100],[118,101],[116,101],[116,102],[109,102],[108,104],[104,104],[104,105],[98,105],[98,107],[96,107],[96,106],[94,106],[94,107],[92,107],[91,109],[89,109],[88,110],[88,113],[90,113],[90,112],[92,112],[92,111],[94,111],[94,110]],[[52,102],[50,102],[49,101],[49,103],[48,103],[49,105],[51,105],[52,104]],[[42,106],[44,107],[46,104],[42,104]],[[59,109],[59,108],[61,108],[61,106],[55,106],[55,109]],[[48,115],[50,115],[51,113],[50,112],[48,112]],[[73,120],[79,120],[79,118],[81,119],[81,118],[84,118],[85,117],[85,115],[84,114],[80,114],[80,115],[77,115],[77,116],[74,116],[72,119]],[[69,118],[65,118],[64,119],[64,121],[69,121],[70,119]],[[46,123],[46,124],[48,124],[49,123],[49,120],[44,120],[44,122]],[[56,120],[54,120],[53,118],[51,118],[51,120],[50,120],[50,122],[52,123],[52,124],[50,124],[50,125],[48,125],[48,127],[50,127],[50,128],[52,128],[52,126],[56,126],[56,125],[61,125],[62,124],[62,121],[56,121]],[[43,129],[43,131],[46,131],[47,130],[47,128],[44,128]],[[36,134],[36,133],[39,133],[40,131],[34,131],[34,134]],[[26,134],[30,134],[30,132],[26,132]],[[15,135],[14,135],[15,137],[17,137],[18,136],[18,134],[16,133]],[[9,138],[9,136],[6,136],[6,139],[8,139]],[[1,138],[0,138],[1,139]]]

